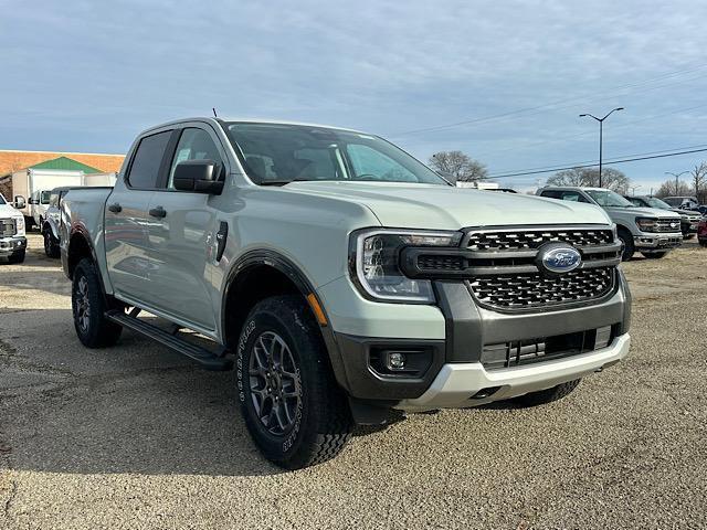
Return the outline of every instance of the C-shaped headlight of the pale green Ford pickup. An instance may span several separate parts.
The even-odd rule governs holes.
[[[351,276],[369,298],[383,301],[431,304],[429,279],[412,279],[400,269],[405,246],[456,246],[461,232],[423,232],[371,229],[351,235]]]

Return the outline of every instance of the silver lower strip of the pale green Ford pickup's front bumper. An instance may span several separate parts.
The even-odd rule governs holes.
[[[626,357],[630,347],[631,337],[624,333],[608,348],[525,367],[487,371],[481,362],[444,364],[424,394],[403,400],[395,409],[464,409],[537,392],[610,367]],[[485,398],[474,398],[485,389],[498,390]]]

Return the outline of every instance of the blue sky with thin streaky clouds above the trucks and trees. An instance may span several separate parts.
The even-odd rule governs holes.
[[[124,153],[144,128],[215,107],[379,134],[421,160],[458,149],[503,176],[595,162],[598,124],[578,115],[618,106],[604,160],[707,149],[696,0],[0,0],[0,149]],[[647,193],[701,160],[613,167]]]

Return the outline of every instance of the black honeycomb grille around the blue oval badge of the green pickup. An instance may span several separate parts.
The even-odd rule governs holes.
[[[539,267],[548,243],[572,246],[581,265],[558,274]],[[479,305],[504,311],[603,298],[615,288],[620,262],[613,230],[595,225],[469,229],[458,248],[410,247],[401,259],[408,276],[464,280]]]

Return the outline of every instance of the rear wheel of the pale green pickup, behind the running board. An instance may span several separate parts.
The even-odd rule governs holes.
[[[104,348],[118,341],[123,327],[108,320],[105,312],[122,306],[103,294],[101,277],[89,258],[78,262],[74,271],[71,306],[74,328],[82,344]]]

